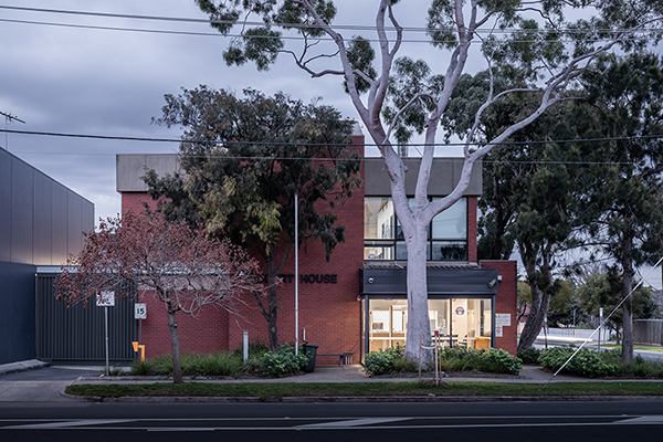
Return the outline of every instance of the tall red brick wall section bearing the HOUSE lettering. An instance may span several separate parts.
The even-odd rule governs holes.
[[[355,144],[364,143],[364,137],[354,137]],[[364,147],[357,146],[362,156]],[[364,177],[364,167],[361,168]],[[309,283],[299,280],[298,285],[298,330],[303,341],[303,329],[306,340],[318,345],[318,352],[355,352],[355,361],[359,360],[360,350],[360,302],[359,271],[364,266],[364,188],[357,189],[351,199],[336,204],[334,213],[338,223],[346,227],[345,243],[338,244],[332,252],[329,261],[325,259],[325,249],[319,240],[312,240],[299,250],[301,275],[336,275],[336,283]],[[294,250],[286,261],[282,274],[294,275]],[[312,277],[313,280],[313,277]],[[295,341],[295,283],[294,278],[284,280],[278,287],[278,340]],[[230,320],[230,348],[242,344],[243,332],[249,332],[251,341],[267,341],[265,319],[260,315],[255,303],[242,312],[242,317]],[[318,365],[338,364],[338,358],[318,357]]]

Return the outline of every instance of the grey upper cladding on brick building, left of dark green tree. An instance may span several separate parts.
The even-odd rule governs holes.
[[[115,158],[115,189],[118,192],[144,192],[147,185],[140,177],[154,169],[159,176],[179,170],[178,156],[175,154],[122,154]]]

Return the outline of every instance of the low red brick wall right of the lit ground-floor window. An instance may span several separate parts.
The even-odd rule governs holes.
[[[481,261],[482,269],[497,269],[502,281],[497,283],[497,295],[495,296],[495,313],[509,314],[511,326],[503,328],[503,337],[495,337],[495,347],[504,348],[512,355],[517,354],[518,325],[516,323],[517,306],[517,270],[515,261]]]

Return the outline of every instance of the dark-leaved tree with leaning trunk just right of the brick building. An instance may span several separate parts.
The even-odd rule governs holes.
[[[461,80],[464,93],[454,93],[444,120],[452,133],[463,135],[467,130],[465,122],[475,115],[480,101],[466,97],[487,95],[486,84],[481,81],[485,76],[482,72]],[[579,97],[583,93],[567,94]],[[484,113],[478,126],[482,137],[491,139],[537,105],[536,94],[503,97]],[[478,257],[506,260],[514,251],[519,253],[529,285],[519,349],[534,345],[550,302],[564,287],[557,264],[567,249],[577,245],[572,233],[579,228],[578,211],[583,210],[579,198],[586,183],[585,161],[592,158],[596,148],[548,140],[600,137],[594,129],[596,118],[596,112],[582,102],[560,103],[484,157]]]

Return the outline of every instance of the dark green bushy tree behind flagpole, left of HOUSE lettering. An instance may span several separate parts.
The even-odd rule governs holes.
[[[150,194],[173,220],[200,220],[208,233],[246,244],[262,263],[267,297],[255,299],[278,348],[278,277],[294,246],[319,240],[327,260],[345,241],[335,207],[360,186],[359,152],[348,147],[352,123],[330,106],[285,94],[244,97],[200,86],[166,95],[157,124],[181,126],[183,173],[148,172]],[[298,238],[295,241],[295,194]]]

